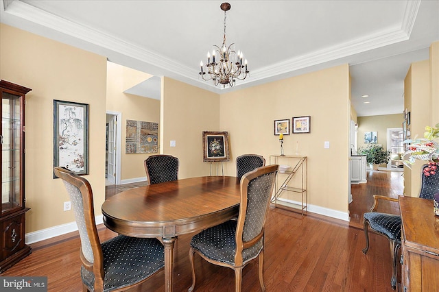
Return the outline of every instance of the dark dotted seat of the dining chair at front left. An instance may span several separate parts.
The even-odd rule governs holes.
[[[140,282],[165,266],[163,245],[158,239],[139,239],[119,235],[102,243],[104,291]],[[94,291],[95,276],[81,267],[81,277]]]

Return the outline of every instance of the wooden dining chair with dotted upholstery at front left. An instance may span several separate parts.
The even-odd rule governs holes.
[[[54,173],[67,188],[78,225],[83,291],[125,290],[165,267],[164,248],[158,239],[119,235],[101,243],[90,183],[62,167],[55,167]]]

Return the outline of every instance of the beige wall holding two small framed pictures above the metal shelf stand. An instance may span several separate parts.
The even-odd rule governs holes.
[[[310,134],[284,136],[286,155],[308,156],[309,204],[347,212],[349,103],[348,65],[221,95],[221,129],[230,136],[226,175],[235,175],[235,159],[260,154],[270,163],[280,154],[274,120],[311,116]],[[324,149],[324,141],[330,148]]]

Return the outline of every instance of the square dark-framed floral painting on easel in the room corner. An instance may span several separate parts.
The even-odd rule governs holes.
[[[228,132],[203,131],[203,162],[229,160]]]

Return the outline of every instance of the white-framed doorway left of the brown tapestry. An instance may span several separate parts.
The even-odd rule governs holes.
[[[121,182],[121,120],[120,112],[106,113],[106,185],[120,184]]]

